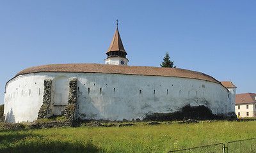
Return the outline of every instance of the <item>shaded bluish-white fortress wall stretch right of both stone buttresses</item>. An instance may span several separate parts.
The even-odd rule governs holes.
[[[232,112],[228,91],[220,84],[177,77],[79,74],[78,112],[82,119],[132,120],[170,113],[185,105],[205,105],[212,113]]]

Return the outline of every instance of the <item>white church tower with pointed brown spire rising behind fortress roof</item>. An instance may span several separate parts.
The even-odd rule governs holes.
[[[126,58],[127,53],[124,50],[124,46],[118,31],[118,20],[116,20],[116,32],[106,54],[108,57],[104,60],[105,64],[127,66],[127,62],[129,62],[129,60]]]

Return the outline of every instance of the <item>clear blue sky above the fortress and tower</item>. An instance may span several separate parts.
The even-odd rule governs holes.
[[[104,64],[118,29],[130,66],[177,68],[256,93],[256,1],[0,1],[0,104],[22,69]]]

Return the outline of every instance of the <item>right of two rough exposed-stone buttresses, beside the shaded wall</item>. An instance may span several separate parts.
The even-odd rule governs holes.
[[[70,78],[69,81],[69,94],[68,105],[65,108],[65,117],[73,123],[76,115],[76,102],[77,102],[77,78]]]

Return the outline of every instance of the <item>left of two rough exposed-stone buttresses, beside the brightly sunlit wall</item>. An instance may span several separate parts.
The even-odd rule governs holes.
[[[43,105],[41,106],[37,119],[44,119],[47,117],[47,111],[49,110],[51,103],[51,87],[52,80],[44,80],[44,98]]]

